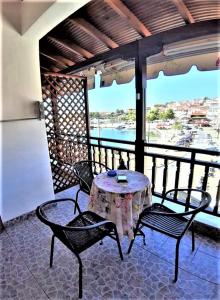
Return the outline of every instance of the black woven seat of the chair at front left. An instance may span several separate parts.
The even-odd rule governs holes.
[[[83,228],[85,226],[97,224],[105,220],[106,219],[91,211],[86,211],[69,222],[66,226]],[[80,253],[95,244],[97,241],[101,240],[111,231],[112,227],[109,226],[109,224],[104,224],[90,230],[66,231],[65,234],[73,249]]]

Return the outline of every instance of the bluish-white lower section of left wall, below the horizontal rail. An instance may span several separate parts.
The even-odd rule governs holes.
[[[43,121],[2,123],[2,218],[10,220],[53,199]]]

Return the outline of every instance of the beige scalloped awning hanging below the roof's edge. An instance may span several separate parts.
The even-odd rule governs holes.
[[[147,79],[157,78],[162,71],[166,76],[185,74],[192,66],[199,71],[211,71],[220,68],[220,36],[210,35],[200,39],[165,45],[162,52],[147,58]],[[134,60],[117,59],[96,68],[80,72],[88,78],[88,88],[95,87],[95,73],[101,71],[100,87],[132,81],[135,76]]]

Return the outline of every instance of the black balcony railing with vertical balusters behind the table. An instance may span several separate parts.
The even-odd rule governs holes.
[[[152,194],[162,198],[169,189],[188,187],[207,190],[212,196],[206,213],[219,216],[220,164],[218,151],[144,143],[144,173],[152,183]],[[93,160],[116,169],[123,158],[130,170],[135,170],[135,142],[90,137],[90,155]],[[178,203],[177,195],[174,200]],[[181,204],[181,202],[179,203]]]

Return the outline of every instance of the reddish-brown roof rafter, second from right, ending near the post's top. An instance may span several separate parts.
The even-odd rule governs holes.
[[[119,16],[126,19],[130,25],[137,30],[143,37],[150,36],[151,32],[135,16],[135,14],[121,2],[121,0],[104,0]]]

